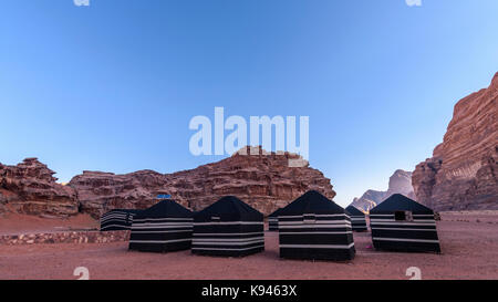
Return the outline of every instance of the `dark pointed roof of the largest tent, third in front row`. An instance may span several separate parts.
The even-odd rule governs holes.
[[[279,216],[303,214],[344,214],[344,209],[322,194],[310,190],[281,209]]]

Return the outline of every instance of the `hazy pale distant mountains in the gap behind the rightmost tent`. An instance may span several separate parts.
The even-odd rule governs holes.
[[[396,170],[390,177],[390,186],[386,191],[367,190],[362,197],[354,198],[351,206],[356,207],[364,212],[369,212],[372,208],[376,207],[393,194],[403,194],[406,197],[415,199],[411,171],[402,169]]]

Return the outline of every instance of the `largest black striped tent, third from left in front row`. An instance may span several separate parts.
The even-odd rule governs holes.
[[[279,239],[281,258],[342,261],[356,253],[350,217],[314,190],[281,209]]]

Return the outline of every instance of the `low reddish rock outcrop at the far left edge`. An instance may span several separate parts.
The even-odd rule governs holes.
[[[77,214],[74,189],[56,184],[53,175],[37,158],[27,158],[17,166],[0,164],[0,211],[44,217]]]

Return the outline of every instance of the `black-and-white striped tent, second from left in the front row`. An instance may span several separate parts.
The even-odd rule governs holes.
[[[224,197],[194,216],[195,254],[241,257],[263,250],[263,215],[237,197]]]

